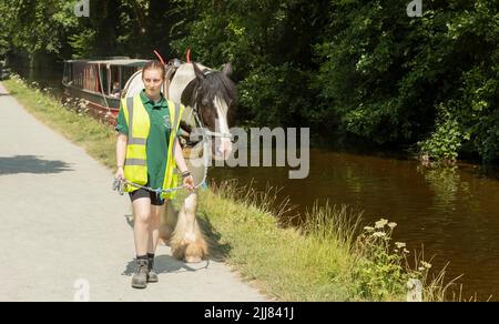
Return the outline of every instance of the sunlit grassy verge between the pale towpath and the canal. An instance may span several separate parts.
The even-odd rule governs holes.
[[[104,164],[113,164],[115,138],[104,125],[67,111],[19,80],[9,81],[8,87],[37,118]],[[377,250],[383,244],[374,244],[376,250],[368,251],[354,246],[350,220],[355,214],[347,209],[313,213],[316,222],[305,229],[304,235],[281,229],[271,205],[272,200],[262,202],[251,193],[241,195],[231,186],[204,192],[198,216],[215,246],[213,261],[232,265],[265,295],[282,301],[405,300],[409,273],[395,259],[375,257],[384,253]],[[384,227],[388,229],[388,224]]]

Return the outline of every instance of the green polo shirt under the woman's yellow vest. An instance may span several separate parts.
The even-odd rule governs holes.
[[[163,95],[161,95],[160,102],[154,103],[145,95],[144,90],[141,92],[141,99],[151,121],[151,130],[146,142],[147,182],[149,186],[157,189],[162,188],[164,183],[169,139],[172,131],[169,103]],[[120,108],[120,114],[118,115],[116,131],[129,135],[123,107]],[[177,136],[180,134],[181,131],[179,130]]]

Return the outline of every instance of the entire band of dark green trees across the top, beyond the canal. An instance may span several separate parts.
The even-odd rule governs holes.
[[[498,0],[0,0],[0,55],[192,59],[234,67],[238,120],[320,129],[326,141],[499,158]],[[440,109],[445,107],[447,115]],[[317,131],[318,133],[318,131]],[[466,143],[467,145],[462,145]]]

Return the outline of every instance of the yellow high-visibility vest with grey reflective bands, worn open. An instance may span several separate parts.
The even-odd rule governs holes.
[[[170,121],[172,130],[169,139],[169,151],[166,160],[166,170],[164,172],[163,190],[176,188],[179,185],[179,175],[175,174],[176,163],[173,149],[179,141],[176,133],[179,131],[181,117],[184,111],[182,104],[167,100]],[[151,129],[151,121],[147,111],[140,94],[134,98],[122,99],[121,101],[126,124],[129,125],[129,142],[126,145],[126,160],[124,165],[124,176],[129,182],[139,185],[147,183],[147,152],[146,143],[149,131]],[[134,192],[139,188],[126,185],[125,192]],[[174,199],[175,192],[162,194],[163,199]]]

